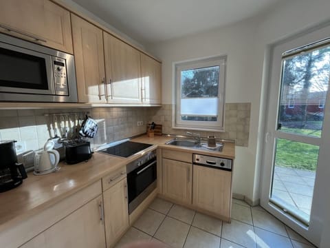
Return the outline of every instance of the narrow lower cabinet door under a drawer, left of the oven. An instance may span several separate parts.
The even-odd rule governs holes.
[[[103,192],[103,202],[107,247],[112,247],[129,227],[126,178]]]

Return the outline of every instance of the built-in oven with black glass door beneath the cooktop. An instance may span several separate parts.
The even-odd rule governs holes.
[[[127,165],[129,214],[157,187],[156,150]]]

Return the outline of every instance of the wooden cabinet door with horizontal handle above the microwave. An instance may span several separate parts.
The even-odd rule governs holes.
[[[48,0],[1,0],[0,3],[0,25],[12,30],[0,28],[0,32],[73,53],[69,11]]]

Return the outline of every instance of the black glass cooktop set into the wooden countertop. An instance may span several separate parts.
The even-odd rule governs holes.
[[[118,145],[113,145],[104,149],[98,150],[98,152],[104,152],[106,154],[115,155],[115,156],[121,156],[123,158],[128,158],[129,156],[142,151],[143,149],[146,149],[148,147],[151,147],[150,144],[144,144],[144,143],[137,143],[137,142],[131,142],[126,141],[124,143],[120,143]]]

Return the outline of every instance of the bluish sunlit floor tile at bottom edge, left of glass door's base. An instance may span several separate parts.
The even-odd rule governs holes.
[[[292,248],[289,238],[259,229],[258,227],[254,228],[254,233],[256,234],[256,245],[258,248]]]

